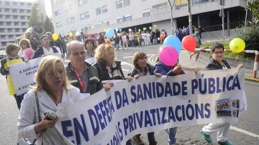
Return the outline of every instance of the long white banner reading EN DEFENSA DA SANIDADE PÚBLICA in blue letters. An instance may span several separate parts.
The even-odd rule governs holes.
[[[143,76],[59,108],[56,127],[74,144],[125,144],[169,127],[238,122],[247,108],[243,95],[244,69]]]

